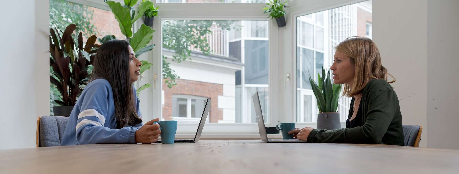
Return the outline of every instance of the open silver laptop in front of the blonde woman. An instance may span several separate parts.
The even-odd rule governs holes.
[[[265,142],[306,142],[306,141],[297,140],[297,139],[288,139],[288,140],[268,139],[268,136],[266,135],[266,129],[264,127],[263,113],[261,111],[260,98],[258,98],[258,92],[255,92],[255,95],[253,95],[252,99],[253,99],[253,106],[255,106],[255,113],[257,114],[258,130],[260,132],[262,141],[265,141]]]

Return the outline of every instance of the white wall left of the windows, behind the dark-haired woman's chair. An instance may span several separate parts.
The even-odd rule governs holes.
[[[3,1],[0,149],[35,147],[36,122],[49,113],[49,1]]]

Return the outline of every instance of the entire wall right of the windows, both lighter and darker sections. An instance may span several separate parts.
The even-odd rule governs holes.
[[[420,147],[459,149],[459,1],[373,0],[373,40]]]

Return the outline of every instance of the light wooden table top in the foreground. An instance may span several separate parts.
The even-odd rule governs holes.
[[[95,144],[0,151],[1,174],[459,174],[459,150],[369,144]]]

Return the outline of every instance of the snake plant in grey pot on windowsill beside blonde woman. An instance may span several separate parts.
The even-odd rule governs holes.
[[[330,70],[325,78],[325,69],[322,67],[322,77],[318,74],[319,85],[309,76],[309,82],[313,88],[314,96],[317,99],[319,114],[317,115],[317,129],[334,130],[340,129],[340,114],[338,98],[341,92],[341,85],[332,84],[330,81]]]

